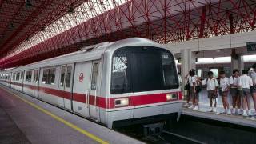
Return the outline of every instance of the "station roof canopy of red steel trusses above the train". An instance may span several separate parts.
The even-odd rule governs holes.
[[[254,0],[0,0],[0,68],[105,41],[160,43],[255,29]]]

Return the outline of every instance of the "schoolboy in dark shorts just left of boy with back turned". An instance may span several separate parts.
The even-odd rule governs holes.
[[[239,70],[233,70],[233,75],[230,77],[230,94],[232,96],[232,114],[239,114],[241,115],[241,98],[240,92],[238,90],[238,78],[239,78]],[[238,109],[236,110],[236,106]]]

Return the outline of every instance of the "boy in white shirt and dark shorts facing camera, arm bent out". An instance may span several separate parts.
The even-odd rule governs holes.
[[[208,98],[209,98],[209,102],[210,102],[209,111],[210,112],[214,111],[214,113],[216,113],[217,112],[216,98],[218,97],[218,94],[217,94],[218,81],[217,81],[217,79],[214,78],[214,73],[212,71],[208,72],[208,78],[206,78],[202,81],[202,85],[207,85]],[[214,100],[214,109],[213,109],[213,100]]]

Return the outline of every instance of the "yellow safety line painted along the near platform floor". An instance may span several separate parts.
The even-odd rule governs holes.
[[[2,89],[3,89],[3,90],[6,90],[5,88],[2,88]],[[63,118],[60,118],[60,117],[58,117],[57,115],[54,115],[54,114],[50,113],[50,111],[45,110],[45,109],[43,109],[42,107],[37,106],[37,105],[35,105],[34,103],[29,102],[29,101],[27,101],[27,100],[24,99],[24,98],[19,97],[17,94],[14,94],[14,93],[11,92],[10,90],[6,90],[6,92],[8,92],[8,93],[10,93],[10,94],[13,94],[16,98],[21,99],[23,102],[26,102],[26,103],[30,104],[30,106],[33,106],[34,108],[36,108],[36,109],[42,111],[43,113],[50,115],[52,118],[58,120],[59,122],[64,123],[66,126],[70,126],[72,129],[77,130],[78,132],[80,132],[80,133],[86,135],[87,137],[93,139],[93,140],[96,141],[96,142],[99,142],[99,143],[102,143],[102,144],[108,144],[108,143],[109,143],[109,142],[106,142],[106,141],[102,140],[101,138],[98,138],[98,137],[95,136],[94,134],[90,134],[88,131],[81,129],[81,128],[78,127],[78,126],[75,126],[74,124],[72,124],[72,123],[70,123],[70,122],[67,122],[67,121],[64,120]]]

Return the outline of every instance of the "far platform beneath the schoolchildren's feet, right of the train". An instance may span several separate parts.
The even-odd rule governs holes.
[[[228,95],[228,101],[230,104],[230,108],[232,108],[232,103],[231,103],[232,99],[230,94]],[[228,122],[228,123],[232,123],[240,126],[249,126],[249,127],[256,128],[256,113],[254,110],[252,98],[250,98],[250,106],[254,115],[251,117],[243,117],[242,115],[238,115],[238,114],[231,114],[231,115],[222,114],[222,112],[224,111],[224,108],[222,106],[222,98],[219,96],[217,98],[217,113],[207,112],[209,106],[210,106],[209,99],[207,98],[206,90],[202,90],[202,92],[199,94],[199,102],[198,102],[199,110],[190,110],[186,107],[183,107],[182,114],[190,115],[198,118],[212,119],[220,122]]]

